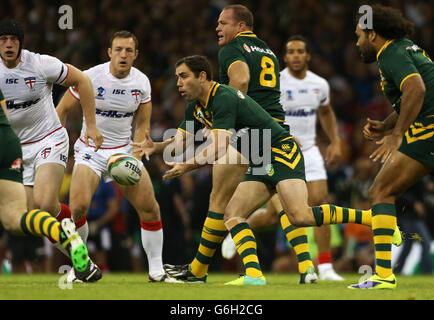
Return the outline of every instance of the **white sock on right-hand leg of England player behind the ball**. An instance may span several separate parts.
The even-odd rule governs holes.
[[[141,228],[142,246],[148,257],[149,276],[159,279],[163,269],[163,229],[145,230]]]

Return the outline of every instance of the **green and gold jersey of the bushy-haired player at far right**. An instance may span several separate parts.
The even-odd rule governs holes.
[[[417,120],[434,115],[434,63],[425,50],[402,38],[387,41],[377,53],[381,88],[397,113],[401,108],[402,85],[420,75],[426,93]]]

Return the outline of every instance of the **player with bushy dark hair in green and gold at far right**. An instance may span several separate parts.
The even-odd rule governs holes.
[[[413,25],[396,9],[372,6],[372,28],[356,27],[365,63],[378,62],[381,88],[394,111],[368,119],[365,138],[379,145],[370,158],[383,166],[370,189],[376,274],[352,289],[394,289],[391,243],[396,228],[395,199],[434,168],[434,64],[406,37]]]

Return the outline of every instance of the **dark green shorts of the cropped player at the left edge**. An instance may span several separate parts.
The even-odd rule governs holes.
[[[0,125],[0,179],[23,183],[20,139],[8,125]]]

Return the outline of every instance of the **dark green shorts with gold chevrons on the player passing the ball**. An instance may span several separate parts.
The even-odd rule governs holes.
[[[270,190],[286,179],[306,181],[304,158],[294,138],[281,140],[271,148],[271,163],[262,167],[250,167],[243,181],[264,183]]]

